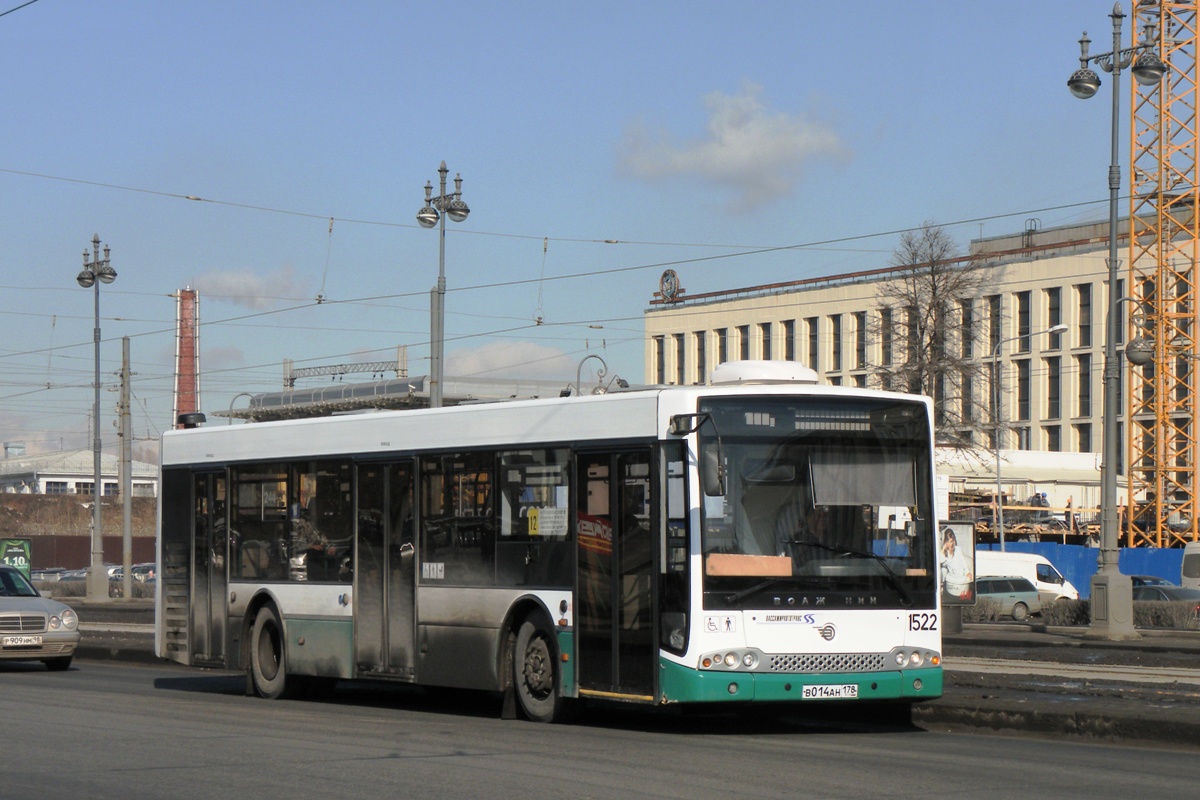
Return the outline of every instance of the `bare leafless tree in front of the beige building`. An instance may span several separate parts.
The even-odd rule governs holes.
[[[882,357],[874,377],[883,389],[932,397],[938,441],[970,445],[988,427],[977,307],[984,273],[928,221],[905,231],[892,264],[896,276],[876,291]]]

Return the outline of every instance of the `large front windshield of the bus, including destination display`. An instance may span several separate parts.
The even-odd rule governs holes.
[[[932,607],[925,407],[894,398],[713,398],[701,463],[706,608]]]

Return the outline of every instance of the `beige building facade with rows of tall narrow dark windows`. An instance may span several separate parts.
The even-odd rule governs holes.
[[[974,330],[970,355],[985,367],[983,385],[977,381],[971,391],[979,408],[994,405],[990,366],[998,347],[1001,419],[1007,428],[1002,449],[1100,450],[1106,247],[1108,223],[971,243],[971,255],[985,270],[978,296],[960,308]],[[668,301],[673,285],[667,282],[666,293],[655,295],[644,315],[646,381],[698,384],[722,361],[784,359],[811,367],[829,384],[877,387],[875,369],[886,356],[884,343],[872,331],[881,329],[881,314],[889,313],[888,289],[899,272],[869,269],[682,294],[673,302]],[[1124,281],[1117,290],[1126,294]],[[1121,306],[1122,342],[1124,309],[1130,307]],[[1038,333],[1058,324],[1067,331]],[[892,344],[894,353],[901,347]],[[1123,429],[1122,425],[1122,435]],[[990,431],[973,439],[980,449],[995,447]]]

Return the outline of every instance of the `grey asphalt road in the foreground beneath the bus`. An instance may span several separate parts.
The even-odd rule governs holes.
[[[1194,752],[1160,746],[608,710],[542,726],[484,694],[347,682],[269,702],[240,674],[88,660],[0,664],[0,682],[13,798],[1190,800],[1200,784]]]

